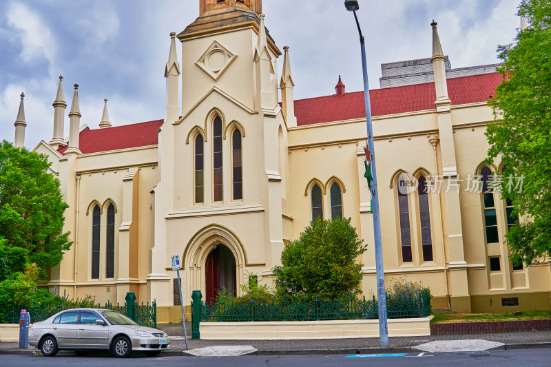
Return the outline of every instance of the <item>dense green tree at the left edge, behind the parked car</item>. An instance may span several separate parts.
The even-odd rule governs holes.
[[[39,276],[70,249],[62,233],[67,205],[48,158],[7,141],[0,144],[0,280],[37,263]]]

